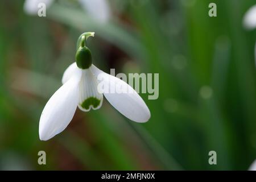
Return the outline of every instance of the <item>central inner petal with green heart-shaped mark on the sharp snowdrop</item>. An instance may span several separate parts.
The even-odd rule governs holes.
[[[90,68],[83,70],[79,87],[79,109],[82,111],[100,109],[103,94],[98,92],[97,85],[98,81]]]

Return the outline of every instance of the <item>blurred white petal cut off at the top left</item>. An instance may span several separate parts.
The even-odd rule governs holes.
[[[26,0],[24,3],[24,11],[27,14],[36,15],[39,10],[39,3],[44,3],[46,7],[49,7],[53,0]]]

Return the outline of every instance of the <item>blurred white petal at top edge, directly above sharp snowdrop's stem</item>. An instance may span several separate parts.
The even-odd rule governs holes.
[[[105,23],[110,18],[110,8],[106,0],[79,0],[82,7],[92,18]]]

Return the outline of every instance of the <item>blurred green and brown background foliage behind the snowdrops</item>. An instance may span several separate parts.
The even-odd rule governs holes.
[[[255,1],[108,3],[102,24],[75,0],[55,1],[46,17],[26,14],[24,1],[0,2],[0,169],[247,170],[256,158],[256,30],[242,18]],[[159,73],[158,100],[141,94],[151,119],[129,121],[104,100],[40,141],[40,114],[86,31],[96,32],[88,46],[98,68]]]

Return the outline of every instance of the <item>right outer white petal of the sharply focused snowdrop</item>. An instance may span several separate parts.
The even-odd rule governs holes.
[[[94,65],[92,65],[92,72],[96,76],[99,82],[104,81],[105,85],[109,85],[113,88],[127,88],[127,90],[133,90],[128,93],[110,93],[102,90],[106,99],[125,117],[135,122],[147,122],[150,118],[150,110],[145,102],[139,96],[137,92],[126,82],[120,80],[117,77],[109,75]],[[102,80],[103,78],[103,80]],[[112,89],[110,88],[110,89]]]

